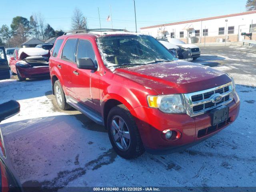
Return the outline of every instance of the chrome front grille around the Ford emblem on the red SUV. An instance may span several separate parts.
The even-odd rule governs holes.
[[[196,116],[218,106],[228,104],[233,99],[232,93],[232,82],[230,82],[208,90],[184,94],[187,114]],[[218,102],[212,102],[212,97],[215,94],[220,94],[222,99]]]

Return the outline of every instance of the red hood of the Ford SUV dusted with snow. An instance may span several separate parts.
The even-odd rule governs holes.
[[[225,72],[182,60],[117,68],[114,73],[158,94],[189,93],[231,82]]]

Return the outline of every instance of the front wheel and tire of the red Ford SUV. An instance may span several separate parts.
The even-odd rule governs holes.
[[[110,142],[118,155],[132,159],[144,153],[138,127],[124,105],[115,106],[110,110],[107,128]]]

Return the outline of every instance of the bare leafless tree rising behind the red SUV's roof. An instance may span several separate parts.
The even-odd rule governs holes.
[[[75,8],[72,16],[72,29],[86,29],[86,18],[80,9]]]

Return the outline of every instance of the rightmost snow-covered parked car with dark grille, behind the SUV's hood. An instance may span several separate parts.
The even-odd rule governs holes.
[[[201,51],[200,48],[194,44],[186,44],[183,41],[176,39],[176,38],[169,38],[168,41],[180,48],[183,49],[190,49],[192,52],[192,58],[193,60],[196,60],[198,57],[200,57]]]

